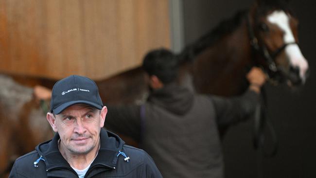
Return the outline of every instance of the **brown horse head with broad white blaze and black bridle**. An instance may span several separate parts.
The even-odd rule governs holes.
[[[298,46],[298,19],[287,1],[257,0],[248,15],[250,44],[274,82],[304,84],[308,62]]]

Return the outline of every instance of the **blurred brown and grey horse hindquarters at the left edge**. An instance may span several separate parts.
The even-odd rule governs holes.
[[[53,137],[33,88],[0,74],[0,177],[7,177],[15,159]]]

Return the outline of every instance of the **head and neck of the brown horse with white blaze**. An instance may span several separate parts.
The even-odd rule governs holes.
[[[272,84],[304,84],[308,63],[298,47],[298,19],[284,1],[257,0],[189,44],[180,61],[198,93],[233,96],[248,86],[246,72],[260,66]]]

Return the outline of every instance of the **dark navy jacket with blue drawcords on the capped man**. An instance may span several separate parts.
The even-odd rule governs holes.
[[[58,150],[59,135],[36,146],[35,151],[18,158],[9,178],[78,178]],[[162,178],[152,158],[143,150],[125,145],[117,135],[101,129],[100,150],[85,178]],[[124,161],[125,153],[130,158]],[[38,161],[38,167],[34,162]],[[44,161],[45,160],[45,161]]]

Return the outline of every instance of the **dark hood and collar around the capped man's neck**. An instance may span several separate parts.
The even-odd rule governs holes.
[[[53,137],[53,140],[40,143],[35,148],[35,150],[41,156],[38,160],[43,160],[45,162],[47,171],[61,167],[70,168],[69,163],[59,152],[59,138],[59,134],[56,133]],[[116,134],[106,131],[103,128],[101,128],[100,132],[100,141],[100,150],[97,157],[92,162],[91,167],[93,167],[96,162],[98,162],[98,164],[114,169],[118,160],[117,154],[120,152],[120,150],[122,150],[125,142]]]

